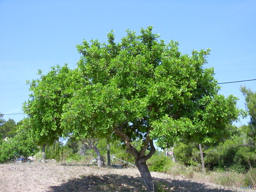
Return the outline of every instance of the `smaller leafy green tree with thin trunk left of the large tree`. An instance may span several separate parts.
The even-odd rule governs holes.
[[[45,146],[52,145],[62,136],[62,106],[73,94],[78,78],[76,70],[69,69],[67,65],[52,67],[47,75],[38,70],[38,75],[41,75],[40,79],[28,81],[32,93],[29,95],[31,99],[23,104],[23,111],[28,115],[26,123],[31,137],[43,146],[43,161],[46,162]]]

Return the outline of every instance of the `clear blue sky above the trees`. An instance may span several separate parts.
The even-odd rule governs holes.
[[[0,1],[0,112],[22,113],[28,100],[26,80],[47,73],[52,66],[76,67],[76,44],[83,39],[106,41],[115,30],[116,40],[125,29],[153,32],[168,42],[180,42],[180,51],[211,48],[205,68],[215,67],[222,82],[256,79],[256,1]],[[239,97],[256,81],[223,84],[221,94]],[[16,122],[24,116],[4,115]],[[242,120],[246,124],[248,119]]]

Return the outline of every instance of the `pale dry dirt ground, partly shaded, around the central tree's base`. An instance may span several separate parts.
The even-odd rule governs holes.
[[[255,192],[200,183],[151,172],[157,185],[173,192]],[[0,164],[1,192],[140,192],[145,191],[136,168],[110,169],[89,165]]]

